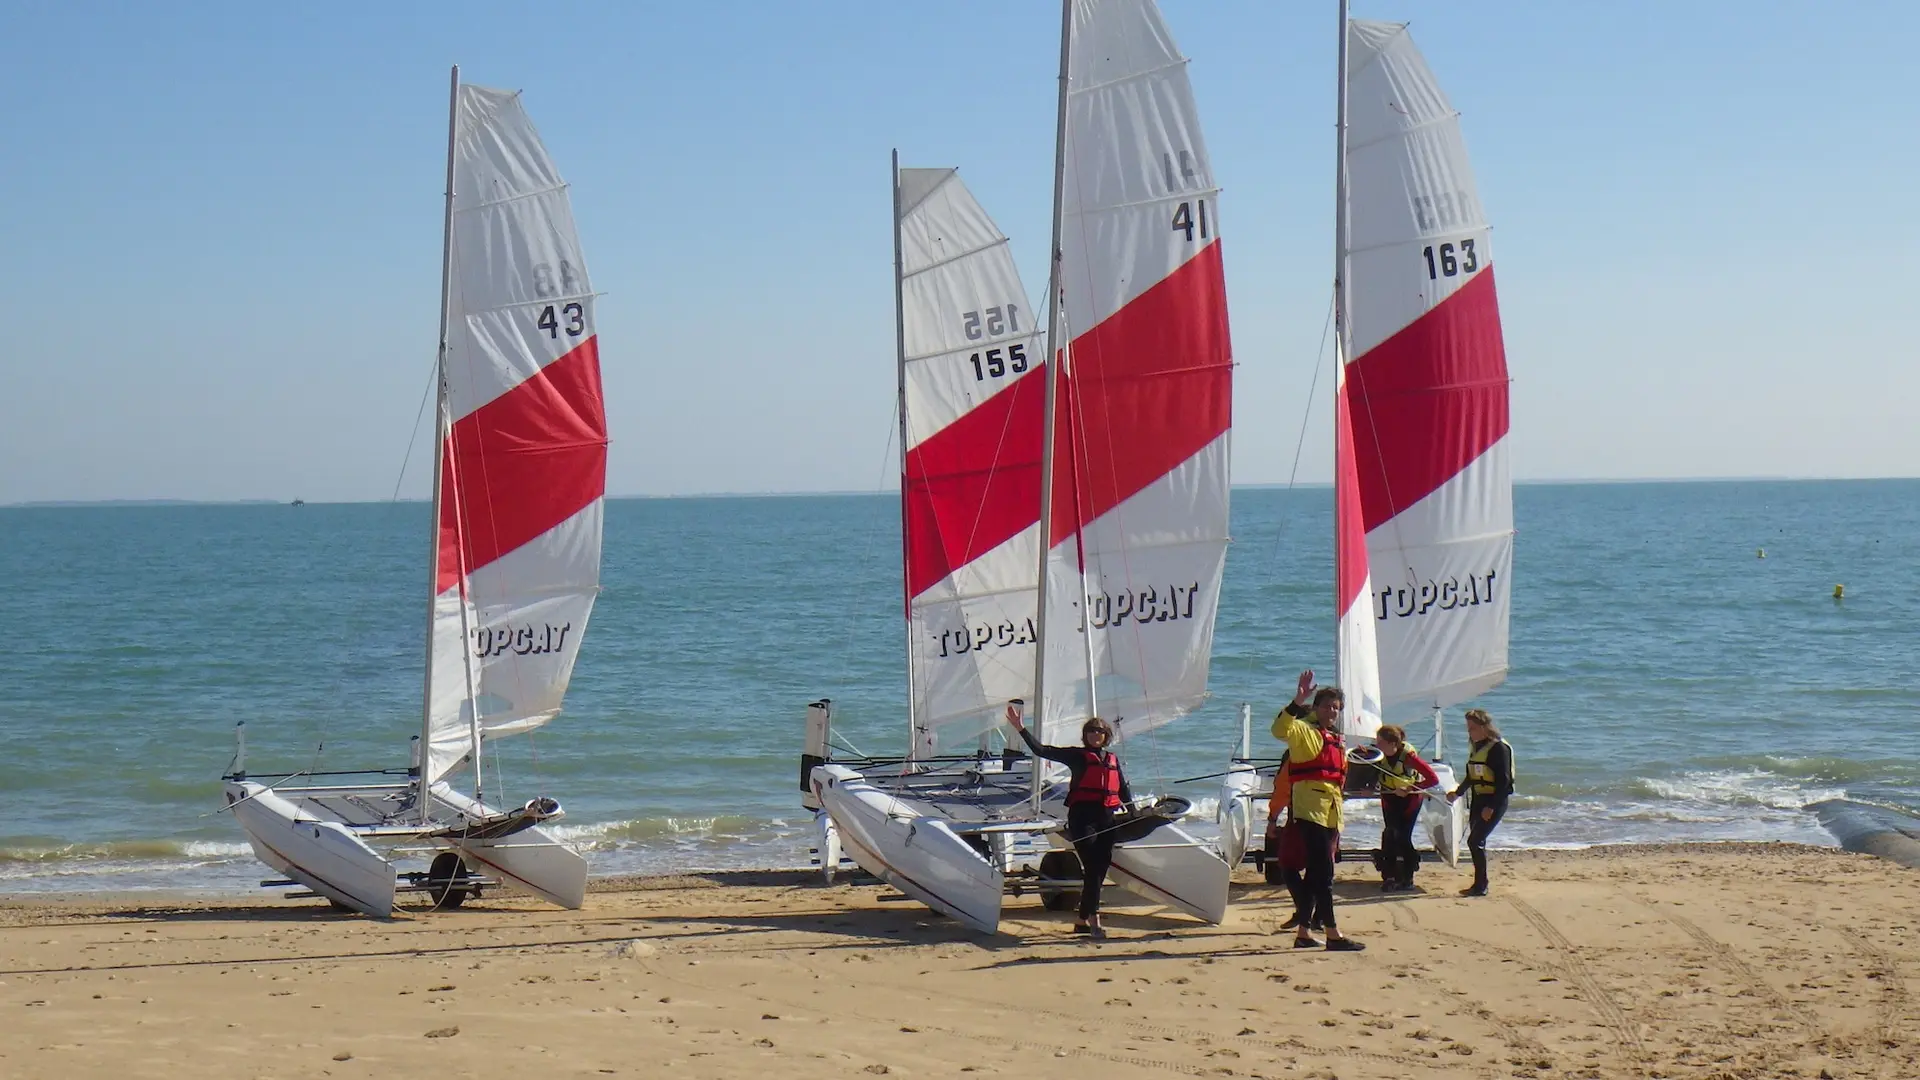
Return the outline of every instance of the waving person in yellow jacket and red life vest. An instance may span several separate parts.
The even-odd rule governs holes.
[[[1340,934],[1332,915],[1332,861],[1340,851],[1340,799],[1346,786],[1346,744],[1340,740],[1340,707],[1346,694],[1336,686],[1313,686],[1313,673],[1300,673],[1294,700],[1273,719],[1273,738],[1286,744],[1286,774],[1292,780],[1288,809],[1306,847],[1306,888],[1294,907],[1294,947],[1319,945],[1309,926],[1327,926],[1329,951],[1359,951],[1367,945]]]

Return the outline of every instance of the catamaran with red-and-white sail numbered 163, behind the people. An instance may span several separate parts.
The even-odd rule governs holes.
[[[1448,705],[1507,676],[1513,480],[1494,258],[1459,113],[1405,23],[1340,2],[1334,252],[1334,611],[1342,726]],[[1250,769],[1229,784],[1252,798]],[[1348,794],[1377,786],[1354,769]],[[1465,801],[1428,815],[1453,863]]]

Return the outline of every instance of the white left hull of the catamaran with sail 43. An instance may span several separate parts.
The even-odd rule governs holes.
[[[261,863],[374,919],[394,915],[394,865],[338,821],[301,811],[265,784],[227,784],[227,801]]]

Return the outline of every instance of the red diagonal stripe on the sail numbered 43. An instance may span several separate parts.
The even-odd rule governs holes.
[[[599,336],[591,336],[453,423],[440,463],[436,592],[451,588],[463,567],[472,573],[499,559],[603,494],[607,407]]]

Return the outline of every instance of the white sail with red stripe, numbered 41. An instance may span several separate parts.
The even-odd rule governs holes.
[[[1152,0],[1077,0],[1071,33],[1041,705],[1125,738],[1206,696],[1233,350],[1187,60]]]

